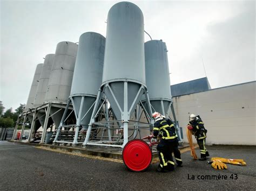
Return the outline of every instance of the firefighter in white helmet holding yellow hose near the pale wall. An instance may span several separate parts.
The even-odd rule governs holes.
[[[200,116],[191,114],[189,117],[189,122],[187,124],[187,129],[192,130],[192,134],[197,139],[197,143],[200,148],[201,158],[198,160],[206,160],[206,157],[210,156],[205,147],[206,133],[207,130],[204,127],[204,123],[201,120]]]

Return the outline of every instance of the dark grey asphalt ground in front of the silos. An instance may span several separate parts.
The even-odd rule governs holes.
[[[187,151],[181,154],[184,166],[175,172],[158,173],[158,164],[152,164],[135,173],[122,162],[0,142],[0,190],[255,190],[255,148],[207,146],[211,157],[244,159],[247,166],[227,164],[227,169],[217,170],[193,160]],[[221,178],[205,180],[212,175]]]

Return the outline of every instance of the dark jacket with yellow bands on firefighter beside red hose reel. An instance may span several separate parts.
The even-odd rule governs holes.
[[[172,121],[168,118],[161,118],[154,123],[153,128],[154,137],[161,137],[161,139],[169,141],[177,141],[177,134]]]

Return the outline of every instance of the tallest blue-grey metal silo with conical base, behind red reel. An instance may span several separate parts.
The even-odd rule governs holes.
[[[107,15],[102,93],[99,92],[96,103],[105,94],[114,116],[122,121],[123,146],[128,141],[130,116],[146,91],[145,82],[143,13],[133,3],[120,2],[113,5]],[[90,144],[89,133],[94,120],[92,118],[84,145]]]

